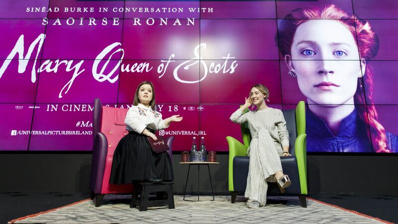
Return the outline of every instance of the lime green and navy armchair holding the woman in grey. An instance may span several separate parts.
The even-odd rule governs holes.
[[[292,156],[281,156],[282,168],[289,175],[292,185],[281,194],[276,183],[269,183],[268,195],[298,196],[302,207],[306,208],[307,166],[306,166],[306,134],[305,104],[300,101],[295,110],[283,110],[290,137],[289,152]],[[229,147],[228,188],[231,192],[231,203],[235,202],[238,193],[246,190],[249,171],[249,157],[246,150],[251,136],[248,124],[241,125],[243,144],[231,136],[227,136]]]

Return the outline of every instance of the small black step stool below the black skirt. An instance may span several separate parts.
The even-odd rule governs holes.
[[[131,196],[130,208],[138,206],[138,210],[147,211],[151,206],[165,206],[174,209],[173,182],[136,183]],[[149,197],[156,192],[156,197]]]

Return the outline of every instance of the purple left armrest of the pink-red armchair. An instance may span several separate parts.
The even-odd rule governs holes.
[[[108,140],[102,132],[94,137],[93,158],[91,162],[90,189],[99,194],[102,188],[103,171],[105,169]]]

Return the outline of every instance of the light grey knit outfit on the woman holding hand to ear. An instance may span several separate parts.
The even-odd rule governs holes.
[[[252,136],[247,149],[250,162],[245,197],[265,205],[267,181],[275,182],[273,175],[282,170],[279,156],[283,153],[282,146],[289,146],[289,132],[286,129],[285,117],[279,109],[267,108],[263,111],[242,113],[238,109],[229,119],[240,124],[248,122]]]

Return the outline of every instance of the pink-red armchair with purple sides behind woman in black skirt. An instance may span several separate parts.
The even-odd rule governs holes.
[[[90,189],[91,199],[96,198],[96,207],[101,205],[106,194],[132,193],[133,191],[132,184],[109,184],[113,152],[120,138],[128,134],[124,123],[127,111],[128,109],[102,106],[100,99],[95,99]],[[174,136],[170,136],[166,140],[170,148],[168,152],[172,158],[171,145]]]

